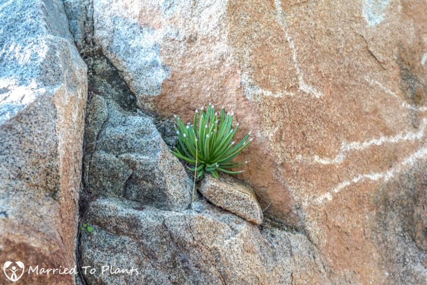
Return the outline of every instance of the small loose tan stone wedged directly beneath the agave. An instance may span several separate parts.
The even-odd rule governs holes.
[[[250,186],[232,177],[215,179],[212,175],[205,175],[198,189],[214,205],[256,225],[262,223],[262,209]]]

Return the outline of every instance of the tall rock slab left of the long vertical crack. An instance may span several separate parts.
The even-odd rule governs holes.
[[[62,1],[2,2],[0,26],[0,261],[72,267],[86,65]],[[21,280],[62,284],[74,276]]]

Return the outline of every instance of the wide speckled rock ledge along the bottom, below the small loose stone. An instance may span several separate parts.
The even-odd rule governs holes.
[[[88,211],[83,263],[123,264],[138,275],[86,274],[93,284],[328,284],[307,237],[263,229],[207,202],[202,212],[158,210],[115,198]],[[120,265],[116,265],[120,267]],[[116,270],[116,267],[113,269]]]

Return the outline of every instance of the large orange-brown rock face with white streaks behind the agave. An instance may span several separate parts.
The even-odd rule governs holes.
[[[426,5],[94,0],[93,21],[73,25],[91,31],[140,108],[234,110],[256,134],[239,178],[266,216],[304,230],[333,282],[400,283],[427,276],[414,221],[427,213],[408,190],[426,183]]]

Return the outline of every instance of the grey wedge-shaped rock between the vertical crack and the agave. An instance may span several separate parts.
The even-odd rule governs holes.
[[[135,108],[126,86],[109,82],[117,73],[109,61],[93,59],[92,68],[96,75],[90,79],[84,158],[87,191],[161,209],[187,208],[191,180],[153,120]]]

